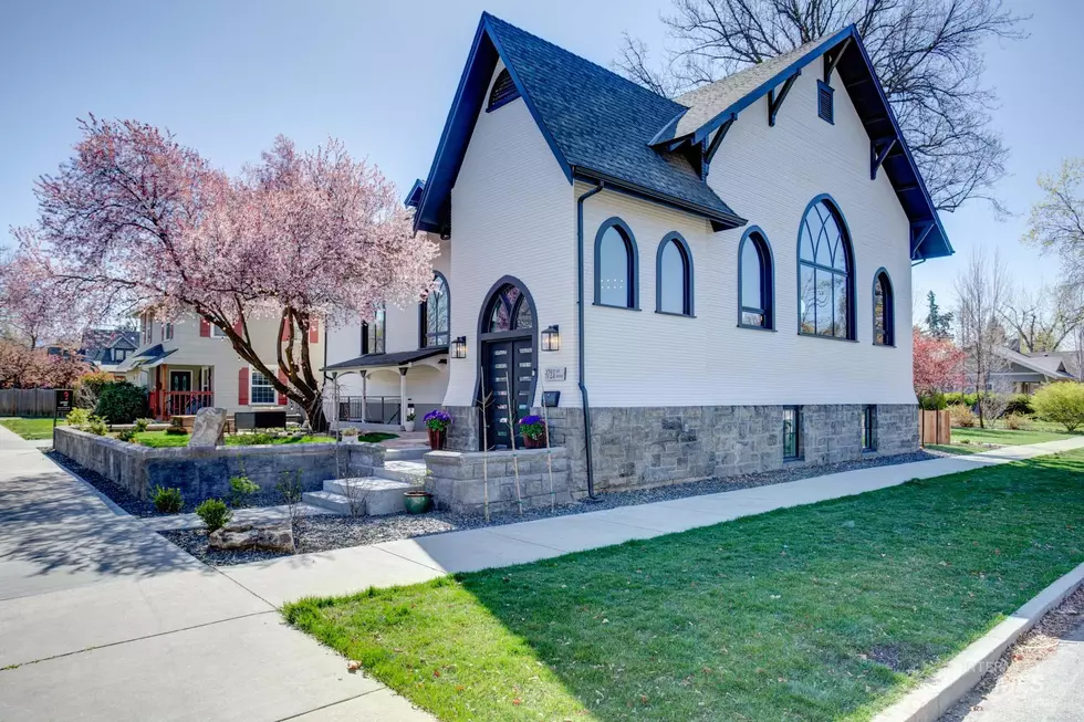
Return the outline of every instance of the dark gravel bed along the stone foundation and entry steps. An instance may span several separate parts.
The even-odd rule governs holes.
[[[309,552],[326,552],[347,546],[379,544],[381,542],[393,542],[396,540],[410,538],[415,536],[430,536],[434,534],[444,534],[447,532],[456,532],[468,529],[501,526],[503,524],[514,524],[517,522],[546,519],[549,516],[566,516],[570,514],[582,514],[585,512],[601,511],[604,509],[616,509],[618,506],[648,504],[658,501],[685,499],[687,496],[713,494],[721,491],[767,486],[788,481],[809,479],[810,477],[821,477],[840,471],[853,471],[855,469],[868,469],[873,467],[889,467],[900,463],[911,463],[915,461],[927,461],[936,458],[939,458],[939,454],[918,451],[915,453],[906,453],[896,457],[882,457],[871,459],[868,461],[848,461],[845,463],[828,464],[823,467],[784,468],[776,471],[767,471],[758,474],[728,477],[725,479],[709,479],[671,486],[616,492],[603,494],[598,498],[598,501],[581,501],[566,506],[557,506],[553,511],[550,511],[549,509],[536,509],[524,512],[522,516],[515,513],[493,514],[490,516],[489,523],[487,523],[482,516],[461,516],[450,512],[440,511],[430,512],[418,516],[409,514],[395,514],[393,516],[382,516],[377,519],[310,516],[298,521],[294,527],[294,542],[298,546],[299,554],[305,554]],[[274,558],[277,556],[283,556],[282,554],[268,552],[211,551],[207,548],[207,533],[204,530],[185,530],[159,533],[192,556],[196,556],[208,564],[220,566],[244,564],[248,562],[259,562]]]

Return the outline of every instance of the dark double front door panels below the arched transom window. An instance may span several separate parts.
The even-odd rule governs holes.
[[[519,420],[530,414],[534,380],[534,347],[530,336],[483,343],[486,394],[486,441],[490,449],[523,447]],[[511,422],[511,428],[509,423]]]

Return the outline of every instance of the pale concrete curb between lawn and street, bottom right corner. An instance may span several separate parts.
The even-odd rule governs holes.
[[[1084,564],[1040,592],[1011,617],[953,657],[934,677],[875,716],[874,722],[936,722],[993,669],[1010,646],[1082,584]]]

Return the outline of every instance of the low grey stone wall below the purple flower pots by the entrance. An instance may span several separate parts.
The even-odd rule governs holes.
[[[493,514],[514,513],[519,509],[515,493],[515,468],[523,509],[549,508],[574,501],[569,486],[569,456],[565,449],[550,450],[553,494],[550,490],[550,465],[545,449],[521,449],[513,460],[511,451],[430,451],[425,456],[429,471],[428,489],[437,509],[457,514],[483,514],[486,481],[489,478],[489,510]],[[483,469],[483,465],[486,469]],[[552,502],[551,502],[552,500]]]

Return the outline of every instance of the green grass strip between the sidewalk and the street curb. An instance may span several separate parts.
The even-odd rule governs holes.
[[[446,721],[866,720],[1084,562],[1082,482],[1043,457],[283,611]]]

